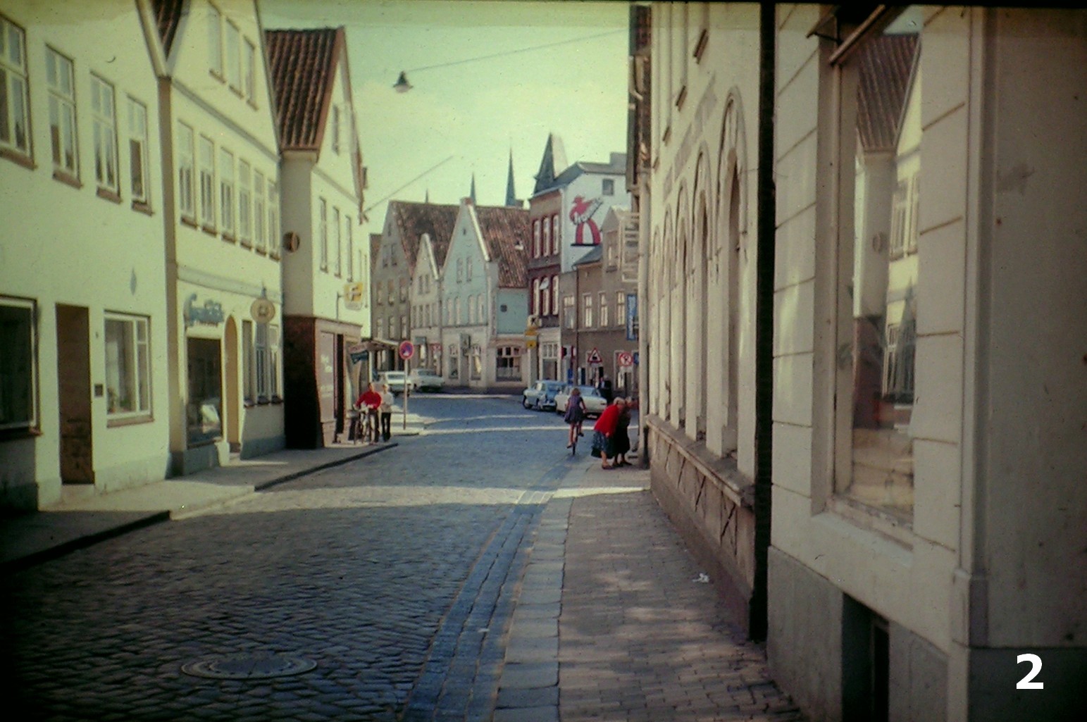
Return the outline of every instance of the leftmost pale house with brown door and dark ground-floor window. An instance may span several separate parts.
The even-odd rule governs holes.
[[[166,469],[163,69],[123,7],[0,3],[0,508]]]

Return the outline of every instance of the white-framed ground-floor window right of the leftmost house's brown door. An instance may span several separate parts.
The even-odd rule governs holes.
[[[149,320],[105,314],[105,412],[113,419],[151,413]]]

